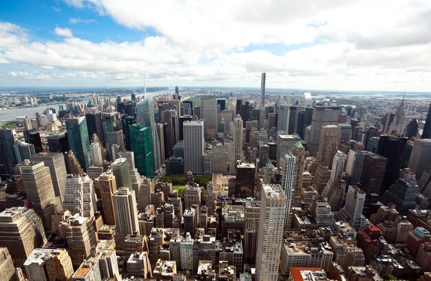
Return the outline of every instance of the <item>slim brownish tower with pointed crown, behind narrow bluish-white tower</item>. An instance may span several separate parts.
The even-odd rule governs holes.
[[[302,175],[304,174],[305,166],[305,148],[301,142],[298,141],[293,146],[292,155],[295,156],[292,206],[301,207]]]

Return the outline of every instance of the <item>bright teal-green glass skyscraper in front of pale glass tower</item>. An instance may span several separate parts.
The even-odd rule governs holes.
[[[129,126],[130,144],[135,154],[135,166],[140,175],[154,177],[153,143],[151,131],[144,124]]]

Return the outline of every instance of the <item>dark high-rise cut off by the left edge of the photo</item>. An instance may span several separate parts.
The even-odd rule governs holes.
[[[0,175],[12,175],[15,165],[14,135],[10,130],[0,129]]]

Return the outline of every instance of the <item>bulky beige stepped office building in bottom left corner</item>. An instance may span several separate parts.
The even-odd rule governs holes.
[[[14,267],[22,267],[33,249],[45,243],[43,224],[34,210],[11,207],[0,213],[0,247],[11,249]]]

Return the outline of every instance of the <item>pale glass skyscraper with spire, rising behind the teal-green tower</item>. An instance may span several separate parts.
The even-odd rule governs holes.
[[[150,129],[151,142],[153,145],[152,153],[154,158],[154,170],[159,170],[162,166],[160,160],[160,142],[156,131],[156,122],[154,122],[154,105],[153,98],[145,97],[137,105],[136,123],[144,124]]]

